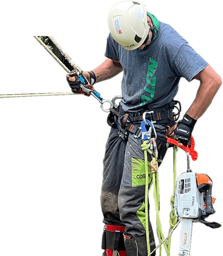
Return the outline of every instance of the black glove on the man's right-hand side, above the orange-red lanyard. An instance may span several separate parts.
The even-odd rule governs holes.
[[[197,120],[189,117],[185,114],[180,122],[177,124],[177,128],[174,130],[174,135],[178,138],[178,141],[187,146],[192,135],[193,129]]]

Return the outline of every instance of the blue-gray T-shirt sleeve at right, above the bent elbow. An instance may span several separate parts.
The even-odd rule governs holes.
[[[174,60],[176,74],[184,77],[188,82],[208,65],[209,63],[187,43],[180,47]]]

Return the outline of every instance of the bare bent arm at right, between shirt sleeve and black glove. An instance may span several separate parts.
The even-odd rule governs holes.
[[[198,120],[211,105],[222,85],[222,78],[208,65],[195,76],[195,79],[200,81],[200,86],[192,105],[187,111],[187,115]]]

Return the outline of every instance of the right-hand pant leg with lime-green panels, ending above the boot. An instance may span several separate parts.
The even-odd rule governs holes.
[[[129,134],[124,159],[124,171],[118,195],[120,218],[126,226],[125,234],[131,238],[146,235],[145,230],[145,162],[142,141]],[[151,156],[148,169],[151,172]],[[152,174],[150,174],[150,181]]]

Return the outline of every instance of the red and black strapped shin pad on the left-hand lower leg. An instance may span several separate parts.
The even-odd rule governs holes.
[[[106,256],[127,256],[123,232],[125,226],[105,225],[102,235],[102,250]]]

